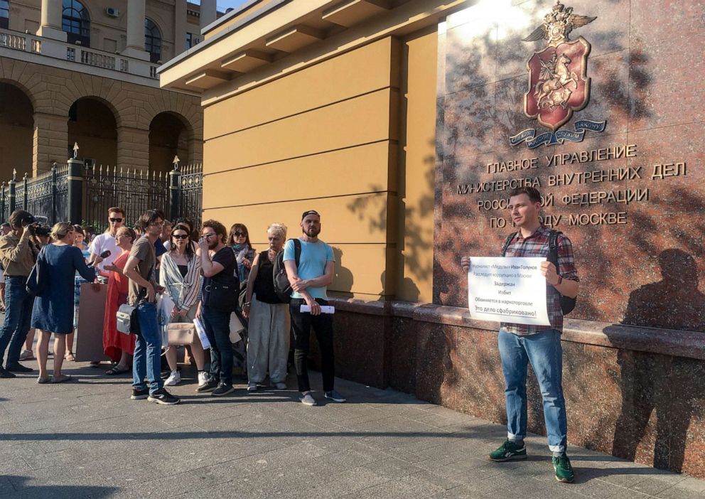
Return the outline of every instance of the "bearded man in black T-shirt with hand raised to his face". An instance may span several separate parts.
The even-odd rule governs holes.
[[[196,391],[212,392],[210,395],[214,397],[223,397],[235,390],[232,387],[230,313],[237,306],[240,286],[235,278],[235,254],[225,246],[226,237],[225,225],[206,220],[198,240],[203,288],[196,317],[203,322],[210,342],[210,379]]]

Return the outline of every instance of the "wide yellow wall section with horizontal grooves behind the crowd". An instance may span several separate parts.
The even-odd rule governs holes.
[[[330,291],[393,297],[400,53],[384,38],[206,107],[204,218],[246,224],[264,250],[271,222],[298,237],[318,210]]]

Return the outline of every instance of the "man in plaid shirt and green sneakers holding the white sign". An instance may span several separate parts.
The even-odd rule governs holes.
[[[540,272],[546,280],[548,323],[500,323],[498,343],[502,372],[505,376],[507,403],[507,441],[490,454],[492,461],[514,461],[527,457],[524,436],[527,433],[527,366],[530,362],[543,395],[544,418],[549,449],[553,453],[556,480],[574,481],[573,468],[566,456],[568,423],[561,384],[563,350],[563,312],[561,295],[578,296],[578,273],[574,265],[573,246],[568,237],[556,238],[557,262],[550,262],[551,230],[539,220],[541,194],[532,187],[516,188],[510,193],[512,222],[519,229],[505,242],[505,257],[543,257]],[[557,268],[556,268],[557,264]],[[470,257],[461,259],[465,272],[470,270]],[[473,304],[470,304],[473,311]],[[535,321],[534,321],[535,322]]]

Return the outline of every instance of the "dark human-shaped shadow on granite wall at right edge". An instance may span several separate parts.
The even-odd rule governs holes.
[[[630,294],[623,323],[705,331],[705,295],[698,289],[694,257],[682,250],[664,250],[659,265],[662,279]],[[609,329],[605,333],[609,336]],[[705,387],[699,382],[702,375],[698,375],[705,372],[705,367],[696,359],[625,349],[619,350],[618,363],[622,409],[615,427],[613,454],[631,461],[652,459],[656,468],[681,471],[688,426],[705,398]],[[649,425],[652,412],[655,429]],[[653,441],[654,448],[638,449],[642,440],[649,446]]]

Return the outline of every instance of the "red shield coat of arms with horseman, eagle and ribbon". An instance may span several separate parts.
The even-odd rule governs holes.
[[[578,142],[586,130],[602,132],[605,129],[605,122],[582,119],[575,123],[575,130],[556,132],[590,100],[587,76],[590,43],[582,36],[571,41],[569,34],[595,19],[573,14],[572,7],[556,1],[550,14],[544,16],[544,23],[522,40],[547,41],[547,47],[534,53],[527,62],[529,88],[524,94],[524,113],[551,132],[536,136],[535,129],[524,130],[510,137],[512,146],[523,141],[529,149],[542,144],[562,144],[564,140]]]

